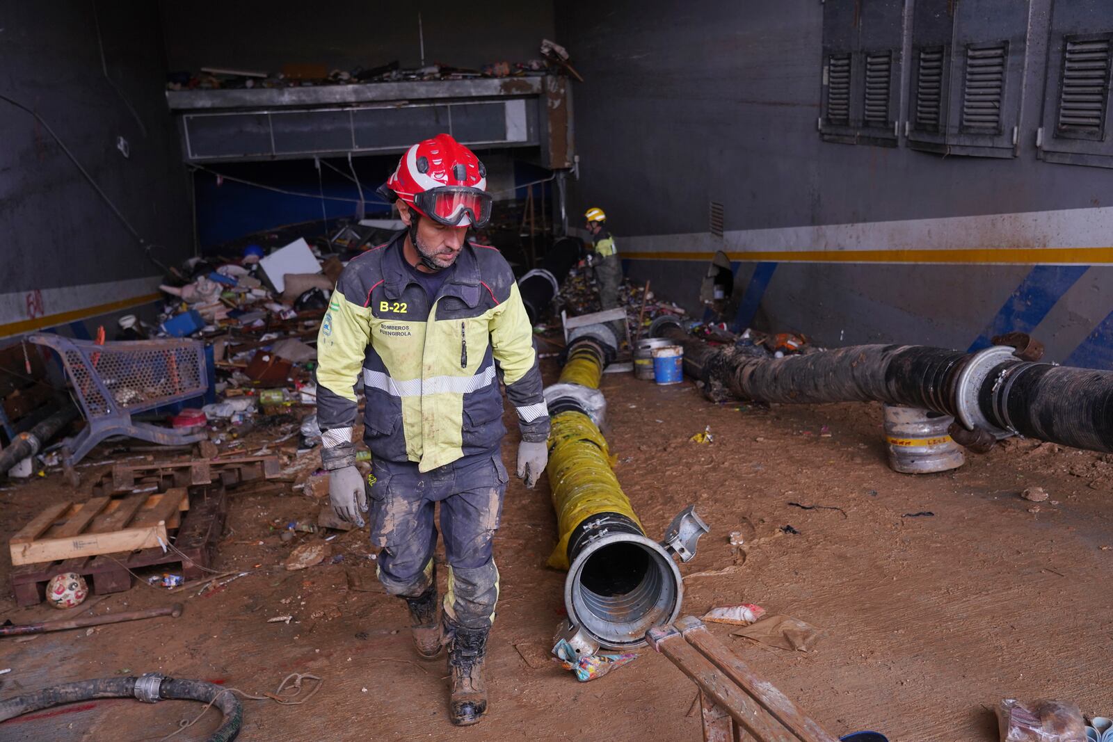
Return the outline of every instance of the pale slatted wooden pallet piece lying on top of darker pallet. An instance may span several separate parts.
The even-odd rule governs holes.
[[[46,508],[9,542],[12,565],[127,553],[169,542],[179,513],[189,507],[184,488],[157,495],[107,495]],[[170,524],[174,525],[170,525]]]

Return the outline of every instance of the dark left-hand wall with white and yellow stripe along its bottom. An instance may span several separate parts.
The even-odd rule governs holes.
[[[42,119],[0,100],[0,337],[149,304],[161,271],[47,127],[159,260],[191,254],[157,8],[4,0],[0,10],[0,93]]]

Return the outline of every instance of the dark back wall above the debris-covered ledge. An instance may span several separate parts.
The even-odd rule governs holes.
[[[414,68],[421,63],[418,12],[427,65],[477,68],[535,59],[541,39],[553,33],[551,2],[246,0],[219,10],[166,0],[160,4],[169,67],[194,72],[201,67],[277,72],[286,63],[352,70],[394,60]]]

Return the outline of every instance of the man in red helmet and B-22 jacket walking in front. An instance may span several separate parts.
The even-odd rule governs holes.
[[[485,188],[483,164],[449,135],[411,147],[381,189],[407,229],[345,267],[317,339],[333,507],[361,526],[370,509],[378,577],[406,601],[417,652],[432,659],[447,645],[456,724],[475,723],[487,705],[483,660],[499,596],[491,542],[508,481],[496,376],[518,413],[516,473],[528,487],[548,457],[549,412],[513,273],[496,249],[466,239],[491,215]],[[352,444],[361,378],[370,488]],[[449,564],[443,602],[436,503]]]

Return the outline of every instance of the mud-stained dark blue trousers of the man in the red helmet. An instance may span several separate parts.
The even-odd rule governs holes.
[[[421,473],[413,462],[375,459],[371,540],[382,548],[378,580],[391,595],[417,597],[433,577],[434,508],[449,563],[444,611],[459,625],[489,629],[499,598],[492,540],[502,517],[506,467],[498,451]]]

